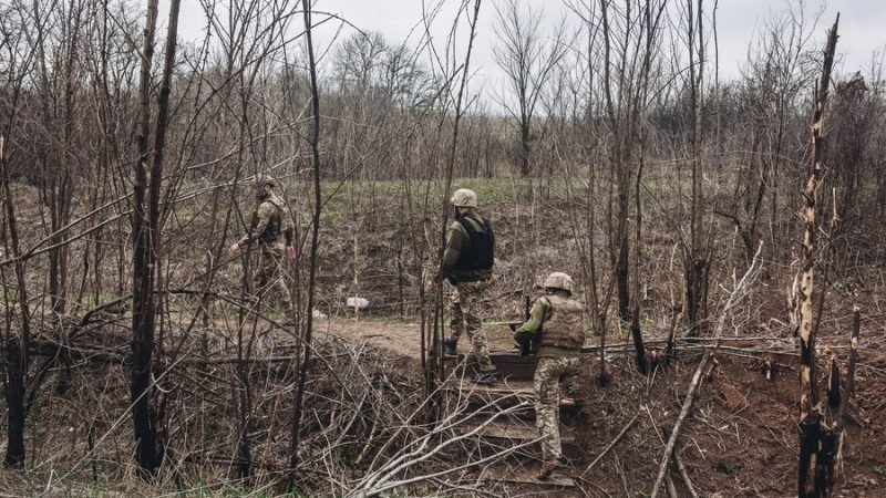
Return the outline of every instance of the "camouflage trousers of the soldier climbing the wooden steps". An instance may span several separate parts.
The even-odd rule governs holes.
[[[560,377],[578,364],[575,356],[542,356],[535,369],[535,425],[542,436],[542,461],[556,461],[560,446]]]

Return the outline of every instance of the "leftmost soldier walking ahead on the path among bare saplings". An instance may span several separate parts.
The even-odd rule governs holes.
[[[256,183],[258,207],[253,214],[249,231],[230,246],[230,253],[235,256],[243,248],[258,241],[261,248],[261,263],[257,274],[257,293],[262,295],[271,288],[276,289],[280,304],[285,310],[289,310],[291,298],[284,281],[282,261],[284,259],[290,261],[296,257],[296,249],[292,247],[295,227],[289,214],[286,212],[286,203],[274,191],[276,187],[277,181],[270,176],[258,179]]]

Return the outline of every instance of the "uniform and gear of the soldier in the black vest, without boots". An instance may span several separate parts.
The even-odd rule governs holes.
[[[470,191],[472,198],[468,204],[456,201],[462,191],[470,190],[462,189],[456,191],[453,196],[453,205],[470,207],[470,211],[453,220],[446,230],[446,249],[443,252],[443,262],[437,276],[437,279],[446,279],[455,286],[455,291],[453,291],[450,299],[451,339],[446,342],[454,350],[459,338],[466,331],[474,346],[474,354],[480,364],[481,373],[492,373],[495,372],[495,366],[490,360],[490,345],[486,341],[486,333],[483,331],[481,312],[483,297],[492,278],[492,251],[494,250],[495,238],[492,224],[476,212],[476,195],[473,191]],[[475,234],[480,234],[491,240],[490,252],[487,253],[490,260],[480,266],[476,264],[476,260],[471,260],[475,256],[472,251],[476,251],[476,249],[471,247],[472,238],[465,225]],[[471,262],[465,262],[467,260],[471,260]]]

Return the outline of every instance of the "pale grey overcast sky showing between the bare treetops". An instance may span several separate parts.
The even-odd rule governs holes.
[[[227,2],[230,0],[223,0]],[[236,0],[235,0],[236,1]],[[422,19],[422,3],[436,4],[439,0],[316,0],[313,9],[333,12],[364,31],[378,31],[393,42],[400,43],[409,38],[414,44],[419,41],[418,29]],[[495,3],[499,0],[484,0],[481,7],[477,39],[472,59],[474,80],[472,86],[485,85],[501,87],[502,73],[493,59],[492,46],[495,43],[493,24],[495,19]],[[555,29],[570,29],[575,22],[570,19],[570,11],[564,7],[562,0],[523,0],[533,9],[544,12],[547,32]],[[165,3],[165,2],[164,2]],[[447,0],[437,17],[432,33],[436,44],[443,44],[455,13],[459,0]],[[766,19],[785,12],[791,6],[797,6],[797,0],[720,0],[717,11],[718,35],[720,44],[720,72],[725,77],[739,74],[743,64],[748,45],[754,41]],[[162,7],[163,9],[163,7]],[[196,39],[202,37],[203,10],[197,0],[183,0],[182,7],[182,37]],[[814,40],[817,45],[823,44],[825,30],[834,22],[837,11],[839,19],[839,41],[837,53],[841,55],[838,63],[843,73],[870,68],[873,54],[883,52],[886,46],[886,0],[805,0],[807,22],[812,23],[818,12],[821,18],[814,29]],[[709,12],[710,14],[710,12]],[[165,18],[165,9],[161,15]],[[566,17],[566,23],[560,20]],[[317,22],[322,19],[318,15]],[[319,28],[316,43],[328,45],[340,23],[327,23]],[[353,30],[344,28],[342,33],[348,35]],[[462,37],[461,46],[466,44],[466,31]],[[814,45],[813,45],[814,46]]]

